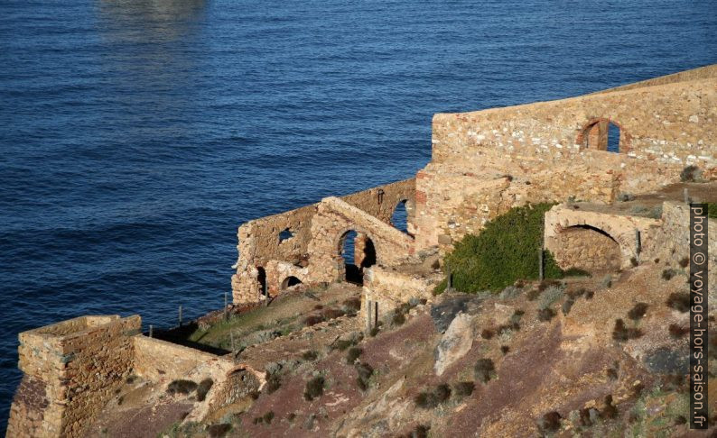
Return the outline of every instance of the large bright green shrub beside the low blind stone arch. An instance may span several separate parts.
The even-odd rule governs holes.
[[[543,242],[544,215],[553,204],[511,208],[488,224],[479,235],[468,234],[446,256],[452,285],[462,292],[498,291],[517,279],[539,278],[538,250]],[[545,252],[545,278],[563,278],[550,252]],[[442,292],[446,281],[436,287]]]

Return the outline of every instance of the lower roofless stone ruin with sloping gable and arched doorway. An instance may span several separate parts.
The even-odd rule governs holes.
[[[391,224],[391,216],[402,202],[409,234]],[[237,272],[232,276],[234,303],[274,297],[290,277],[308,284],[340,280],[344,263],[339,245],[351,230],[359,233],[359,264],[366,238],[376,246],[379,264],[405,260],[412,252],[414,203],[414,179],[406,179],[242,224]],[[284,230],[293,236],[280,242]]]

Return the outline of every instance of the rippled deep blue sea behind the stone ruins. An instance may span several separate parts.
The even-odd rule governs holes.
[[[239,224],[411,177],[434,113],[711,63],[709,0],[0,0],[0,428],[17,333],[218,308]]]

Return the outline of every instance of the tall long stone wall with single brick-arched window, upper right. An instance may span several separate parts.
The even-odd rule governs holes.
[[[717,178],[716,76],[706,68],[623,91],[436,114],[433,160],[416,175],[416,251],[450,251],[513,206],[610,203],[677,182],[690,164]],[[588,147],[607,121],[620,127],[619,153]]]

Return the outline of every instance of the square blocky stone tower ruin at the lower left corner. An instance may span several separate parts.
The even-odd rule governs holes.
[[[23,382],[7,436],[78,437],[132,370],[138,315],[83,316],[20,333]]]

